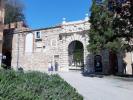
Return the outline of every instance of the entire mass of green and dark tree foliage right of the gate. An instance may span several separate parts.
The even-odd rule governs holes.
[[[128,48],[133,36],[132,6],[128,0],[93,0],[88,50],[117,52]]]

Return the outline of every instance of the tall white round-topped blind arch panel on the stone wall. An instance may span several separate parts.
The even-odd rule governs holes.
[[[25,53],[33,52],[33,34],[29,33],[25,38]]]

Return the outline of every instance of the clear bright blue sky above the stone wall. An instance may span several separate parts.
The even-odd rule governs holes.
[[[92,0],[21,0],[32,29],[54,26],[66,21],[82,20],[89,13]]]

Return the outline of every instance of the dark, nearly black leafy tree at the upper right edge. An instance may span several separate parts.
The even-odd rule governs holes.
[[[114,13],[113,30],[116,37],[124,41],[123,50],[131,51],[133,38],[133,0],[110,0]]]

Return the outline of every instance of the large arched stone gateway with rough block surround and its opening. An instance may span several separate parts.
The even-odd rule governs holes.
[[[88,31],[79,31],[79,32],[71,32],[64,33],[62,37],[64,42],[61,45],[61,70],[69,71],[69,70],[79,70],[86,65],[87,60],[87,38]]]

